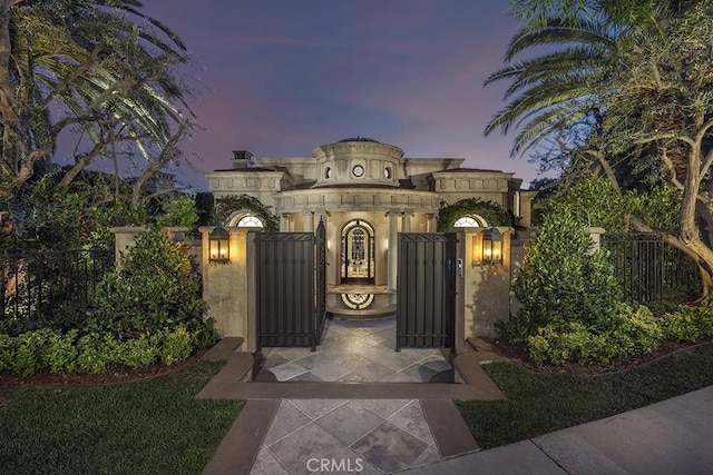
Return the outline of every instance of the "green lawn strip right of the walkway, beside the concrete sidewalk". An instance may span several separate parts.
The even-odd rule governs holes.
[[[543,374],[511,363],[484,366],[506,400],[459,400],[482,448],[536,437],[713,385],[713,344],[626,373]]]

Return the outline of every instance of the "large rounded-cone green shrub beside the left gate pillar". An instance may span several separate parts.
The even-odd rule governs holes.
[[[203,324],[206,310],[193,263],[158,227],[138,236],[98,289],[97,304],[107,328],[120,338],[164,328]]]

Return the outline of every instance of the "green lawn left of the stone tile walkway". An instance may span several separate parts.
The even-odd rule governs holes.
[[[197,474],[243,402],[196,399],[223,363],[114,386],[0,393],[0,472]]]

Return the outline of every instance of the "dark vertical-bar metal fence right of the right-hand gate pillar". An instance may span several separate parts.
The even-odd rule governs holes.
[[[658,232],[607,232],[602,247],[609,251],[624,298],[632,304],[697,296],[701,277],[685,253],[663,240]]]

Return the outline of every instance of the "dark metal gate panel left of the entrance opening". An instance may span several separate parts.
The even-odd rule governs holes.
[[[320,344],[326,316],[324,224],[312,232],[261,232],[257,349]]]

